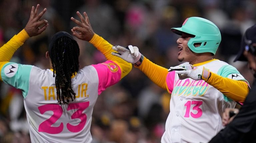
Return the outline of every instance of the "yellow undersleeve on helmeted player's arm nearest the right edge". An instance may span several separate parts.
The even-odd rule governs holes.
[[[212,72],[207,83],[236,102],[244,102],[249,93],[249,87],[245,81],[232,80]]]

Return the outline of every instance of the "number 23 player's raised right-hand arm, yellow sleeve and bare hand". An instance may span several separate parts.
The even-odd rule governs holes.
[[[111,45],[108,41],[93,32],[91,24],[89,22],[89,18],[85,12],[83,13],[84,17],[79,12],[77,12],[77,15],[79,16],[81,21],[78,21],[75,18],[71,17],[71,20],[78,25],[71,29],[73,35],[81,40],[89,41],[90,43],[92,43],[100,52],[105,55],[107,60],[112,60],[120,66],[122,70],[121,78],[126,76],[131,71],[132,65],[124,61],[123,59],[113,56],[111,54],[112,52],[114,52],[114,50],[112,49],[113,45]]]

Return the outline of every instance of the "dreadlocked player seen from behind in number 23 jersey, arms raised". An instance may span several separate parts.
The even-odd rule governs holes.
[[[36,23],[46,9],[37,16],[32,7],[30,21]],[[132,65],[111,54],[112,45],[95,34],[89,19],[77,12],[81,21],[71,18],[79,27],[71,31],[74,36],[89,41],[108,59],[79,70],[79,47],[66,32],[56,33],[49,44],[46,57],[52,69],[42,70],[32,65],[9,62],[25,39],[31,35],[25,30],[14,36],[0,49],[0,79],[22,90],[32,143],[89,143],[93,106],[98,95],[107,87],[127,75]],[[43,31],[34,26],[37,31]],[[11,48],[10,48],[11,47]],[[118,47],[118,46],[117,46]]]

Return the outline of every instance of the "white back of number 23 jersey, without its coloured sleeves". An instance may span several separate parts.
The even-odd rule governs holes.
[[[35,79],[37,77],[38,79]],[[56,104],[53,97],[53,89],[56,94],[55,79],[51,70],[41,70],[33,67],[30,75],[30,85],[24,106],[30,128],[32,143],[89,143],[92,141],[90,126],[93,106],[98,98],[98,75],[93,66],[84,67],[72,78],[72,87],[76,93],[75,101],[67,104]],[[49,90],[51,88],[51,90]],[[78,97],[79,96],[79,97]],[[82,103],[86,110],[79,109],[77,103]],[[52,105],[51,105],[52,104]],[[87,104],[89,105],[88,107]],[[74,109],[70,109],[70,108]],[[81,106],[79,106],[81,107]],[[76,113],[75,113],[76,112]],[[86,117],[85,125],[81,125],[79,117]],[[54,119],[55,118],[55,119]],[[45,123],[45,124],[44,124]],[[77,127],[69,127],[69,125]],[[51,126],[51,127],[50,127]],[[61,127],[63,128],[61,129]],[[82,126],[82,129],[79,127]],[[53,127],[58,128],[53,129]],[[43,130],[45,128],[45,130]],[[41,131],[40,131],[41,129]],[[74,129],[74,130],[73,130]],[[79,131],[81,130],[81,131]],[[59,131],[60,133],[49,133]],[[48,133],[46,133],[48,132]]]

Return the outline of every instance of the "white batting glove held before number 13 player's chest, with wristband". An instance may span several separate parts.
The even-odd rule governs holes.
[[[203,69],[193,66],[189,63],[184,65],[179,65],[175,67],[170,67],[168,71],[175,71],[179,75],[179,79],[191,78],[194,80],[205,80],[208,81],[210,77],[210,71],[203,67]]]

